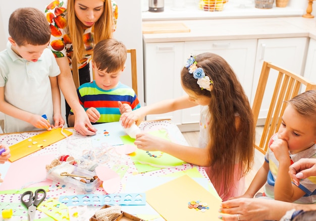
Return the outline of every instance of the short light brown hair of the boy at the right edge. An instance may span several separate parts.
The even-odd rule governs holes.
[[[316,133],[316,90],[305,91],[286,102],[291,104],[300,116],[315,122]]]

